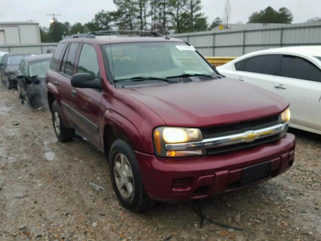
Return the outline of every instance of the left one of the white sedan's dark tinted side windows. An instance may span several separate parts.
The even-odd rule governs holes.
[[[248,58],[244,71],[275,75],[278,55],[267,54]]]

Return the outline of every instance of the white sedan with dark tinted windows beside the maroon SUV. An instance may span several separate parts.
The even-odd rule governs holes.
[[[290,126],[321,135],[321,46],[257,51],[217,69],[284,97],[290,102]]]

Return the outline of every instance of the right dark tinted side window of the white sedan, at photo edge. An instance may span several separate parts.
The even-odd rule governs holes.
[[[321,82],[321,71],[309,61],[296,56],[282,56],[280,75]]]

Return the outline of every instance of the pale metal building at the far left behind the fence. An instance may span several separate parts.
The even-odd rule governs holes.
[[[0,22],[0,45],[40,43],[39,23]]]

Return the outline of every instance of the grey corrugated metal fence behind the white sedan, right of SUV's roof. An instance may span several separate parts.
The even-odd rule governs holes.
[[[321,23],[282,24],[247,30],[215,30],[174,34],[193,45],[204,56],[241,56],[257,50],[321,45]]]

